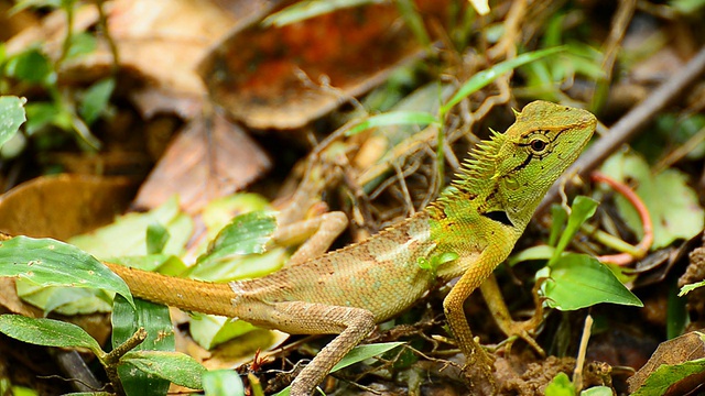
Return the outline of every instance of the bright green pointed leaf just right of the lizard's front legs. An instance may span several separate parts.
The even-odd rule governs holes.
[[[552,308],[574,310],[599,302],[643,306],[609,268],[586,254],[564,254],[552,266],[539,271],[536,278],[540,277],[549,277],[543,293]]]

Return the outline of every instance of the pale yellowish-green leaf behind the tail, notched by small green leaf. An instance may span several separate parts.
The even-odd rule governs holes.
[[[74,237],[69,242],[100,258],[144,255],[147,229],[153,223],[165,227],[171,235],[162,252],[180,255],[191,238],[193,220],[181,211],[176,197],[149,212],[121,216],[112,224]]]

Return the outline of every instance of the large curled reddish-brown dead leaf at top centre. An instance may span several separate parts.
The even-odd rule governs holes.
[[[424,22],[445,21],[445,1],[415,3]],[[259,129],[301,128],[383,82],[424,50],[392,3],[328,12],[282,28],[240,29],[198,69],[216,102]]]

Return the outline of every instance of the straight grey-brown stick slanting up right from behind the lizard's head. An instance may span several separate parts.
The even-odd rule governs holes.
[[[595,144],[593,144],[576,162],[568,168],[566,175],[576,172],[579,176],[585,177],[599,164],[603,163],[611,153],[629,142],[642,128],[651,121],[668,103],[674,100],[685,88],[695,81],[695,79],[705,69],[705,47],[681,69],[673,73],[673,77],[662,84],[641,103],[637,105],[631,111],[622,117],[605,135]],[[572,170],[572,172],[571,172]],[[562,177],[563,178],[563,177]],[[549,194],[539,205],[538,212],[543,213],[551,202],[558,197],[560,179],[549,190]]]

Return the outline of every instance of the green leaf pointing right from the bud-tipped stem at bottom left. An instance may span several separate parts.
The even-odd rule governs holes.
[[[181,352],[130,351],[120,363],[192,389],[202,388],[202,377],[206,373],[200,363]]]

